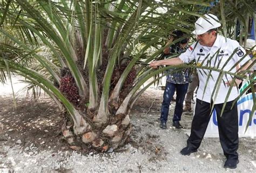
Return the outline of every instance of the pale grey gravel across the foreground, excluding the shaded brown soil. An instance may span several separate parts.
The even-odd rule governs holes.
[[[225,156],[219,139],[204,139],[197,153],[180,155],[188,136],[183,129],[172,128],[170,121],[166,130],[159,128],[162,94],[163,91],[148,89],[134,106],[130,142],[117,151],[83,155],[71,149],[42,150],[33,141],[23,146],[22,138],[14,139],[16,143],[10,146],[6,143],[12,139],[8,138],[0,140],[0,172],[256,172],[255,139],[251,138],[240,139],[240,162],[234,170],[223,168]],[[170,115],[172,112],[171,105]],[[184,114],[180,123],[189,129],[191,120],[190,114]]]

